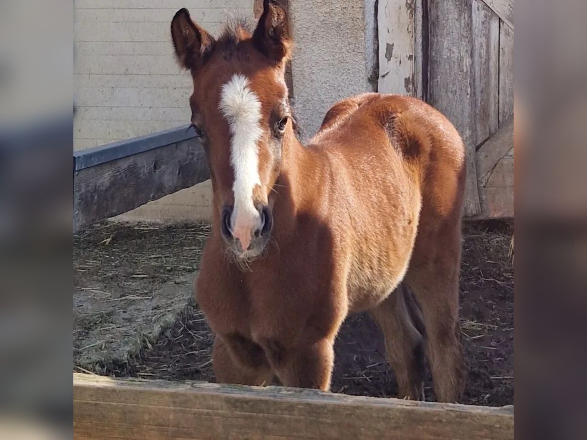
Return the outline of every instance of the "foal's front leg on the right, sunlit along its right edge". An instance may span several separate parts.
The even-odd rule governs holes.
[[[285,387],[330,390],[334,339],[308,340],[295,347],[278,341],[262,344],[269,363]]]

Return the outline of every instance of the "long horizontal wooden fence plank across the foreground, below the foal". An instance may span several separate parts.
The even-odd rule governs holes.
[[[514,438],[512,407],[73,374],[75,438]]]

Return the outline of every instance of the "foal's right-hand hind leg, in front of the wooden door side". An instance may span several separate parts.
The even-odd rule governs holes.
[[[466,374],[458,324],[461,233],[453,224],[445,226],[419,231],[405,282],[423,314],[424,349],[436,398],[457,402]]]

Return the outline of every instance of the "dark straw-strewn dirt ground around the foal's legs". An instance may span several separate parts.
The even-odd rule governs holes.
[[[197,273],[207,233],[208,225],[100,224],[76,236],[74,297],[75,304],[82,306],[75,307],[75,371],[214,381],[210,360],[212,335],[203,314],[185,293],[190,292]],[[501,222],[465,226],[460,314],[468,363],[464,398],[467,404],[500,406],[514,402],[514,276],[508,255],[511,235],[510,226]],[[96,283],[100,289],[92,289]],[[130,297],[126,302],[114,302],[117,309],[112,314],[116,316],[124,314],[124,304],[130,306],[137,301],[133,297],[158,297],[170,283],[183,289],[178,295],[180,300],[172,304],[171,314],[166,321],[158,322],[155,330],[146,329],[149,326],[145,322],[155,321],[157,313],[151,309],[155,307],[156,312],[157,307],[149,302],[137,310],[143,327],[137,333],[139,336],[130,336],[138,345],[126,347],[126,353],[110,352],[109,339],[103,341],[101,330],[107,326],[84,320],[88,310],[93,311],[85,307],[86,297],[96,295],[92,290]],[[91,303],[100,303],[100,299]],[[84,314],[78,309],[87,310]],[[117,339],[116,328],[117,325],[110,328],[110,340]],[[94,335],[93,339],[87,339],[89,334]],[[96,345],[91,347],[94,351],[90,356],[87,352],[91,349],[86,347],[92,343]],[[373,397],[395,395],[397,387],[393,372],[384,361],[382,336],[369,316],[349,317],[335,348],[332,391]],[[433,400],[430,377],[425,390],[427,399]]]

